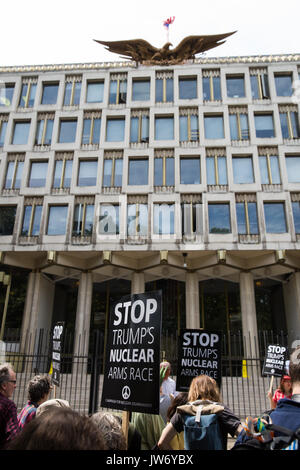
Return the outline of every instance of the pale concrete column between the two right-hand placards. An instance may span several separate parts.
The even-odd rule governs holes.
[[[259,357],[256,306],[252,273],[240,274],[240,300],[245,348],[244,354],[247,358]]]

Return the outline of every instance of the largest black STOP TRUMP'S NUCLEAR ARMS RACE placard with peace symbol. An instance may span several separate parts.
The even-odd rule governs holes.
[[[159,413],[161,291],[112,304],[101,406]]]

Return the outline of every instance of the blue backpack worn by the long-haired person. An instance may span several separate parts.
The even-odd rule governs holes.
[[[224,407],[208,400],[197,400],[177,408],[182,413],[185,450],[223,450],[218,413]]]

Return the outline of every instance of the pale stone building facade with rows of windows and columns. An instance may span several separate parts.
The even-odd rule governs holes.
[[[300,56],[0,68],[5,327],[107,325],[161,289],[163,329],[300,330]]]

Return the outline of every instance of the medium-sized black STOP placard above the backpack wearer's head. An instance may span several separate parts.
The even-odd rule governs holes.
[[[221,386],[221,332],[183,330],[178,342],[176,390],[185,392],[198,375],[206,374]]]

